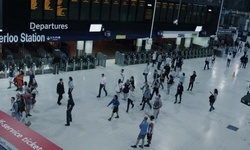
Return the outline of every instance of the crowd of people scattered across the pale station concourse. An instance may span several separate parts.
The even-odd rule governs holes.
[[[231,52],[229,52],[227,56],[227,66],[229,67],[231,59]],[[215,55],[205,58],[205,69],[210,69],[211,66],[215,63]],[[243,68],[246,67],[248,62],[248,58],[246,53],[240,58],[240,62]],[[209,64],[212,64],[209,66]],[[154,131],[154,124],[155,121],[159,118],[160,109],[162,107],[161,101],[161,93],[166,92],[167,95],[170,94],[172,85],[177,83],[176,94],[174,95],[173,99],[175,99],[174,104],[181,104],[182,103],[182,95],[184,92],[184,86],[186,79],[186,73],[182,71],[183,67],[183,58],[181,55],[175,56],[167,56],[165,59],[162,58],[161,52],[155,51],[152,55],[152,64],[147,63],[142,75],[144,76],[144,84],[136,88],[135,87],[135,78],[131,76],[130,78],[126,79],[125,70],[121,69],[119,73],[119,78],[117,79],[117,84],[115,86],[114,92],[116,93],[112,100],[108,103],[107,107],[112,105],[112,113],[111,116],[108,118],[108,121],[111,121],[113,116],[115,118],[119,118],[119,106],[121,105],[120,101],[124,100],[127,103],[126,113],[129,113],[130,109],[133,109],[136,105],[135,101],[135,89],[140,89],[142,91],[141,97],[142,100],[140,102],[141,111],[143,111],[146,107],[146,104],[149,107],[151,114],[147,114],[146,117],[143,118],[143,121],[140,123],[140,133],[137,137],[137,141],[135,145],[132,145],[132,148],[136,148],[139,144],[139,141],[142,140],[142,144],[139,147],[149,147],[152,140],[152,135]],[[152,79],[149,79],[148,76],[152,73]],[[17,87],[17,94],[15,97],[11,97],[11,116],[15,119],[24,122],[27,126],[31,123],[29,121],[29,117],[31,117],[30,110],[35,106],[36,102],[36,94],[37,91],[37,82],[35,80],[35,75],[33,74],[32,70],[29,71],[29,82],[23,81],[24,73],[21,70],[14,70],[10,68],[9,71],[9,87],[11,88],[12,84]],[[195,80],[197,78],[196,71],[192,72],[189,78],[189,84],[187,91],[192,91]],[[102,90],[105,92],[105,96],[108,95],[106,90],[106,82],[107,79],[105,74],[101,74],[101,80],[99,85],[99,91],[97,98],[102,96]],[[166,90],[164,87],[166,85]],[[66,124],[65,126],[70,126],[72,122],[72,110],[75,105],[72,92],[74,89],[73,78],[69,77],[68,81],[68,103],[67,103],[67,110],[66,110]],[[57,104],[61,105],[61,100],[63,98],[63,94],[65,94],[64,89],[64,82],[63,79],[59,79],[56,88],[58,99]],[[214,103],[216,102],[218,96],[218,90],[215,88],[213,92],[210,92],[211,96],[209,99],[210,109],[209,111],[215,110]],[[179,101],[178,101],[179,97]],[[169,97],[171,98],[171,97]],[[153,103],[151,102],[153,100]],[[150,122],[148,122],[148,118]],[[144,145],[144,139],[147,137],[147,144]]]

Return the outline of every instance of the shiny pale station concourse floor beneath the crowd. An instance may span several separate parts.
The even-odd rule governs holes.
[[[156,121],[152,144],[149,150],[249,150],[250,147],[250,107],[240,102],[246,94],[246,86],[250,82],[250,66],[239,68],[239,56],[226,67],[226,58],[217,58],[210,70],[203,70],[205,58],[184,60],[183,72],[186,73],[184,93],[181,104],[174,104],[174,95],[179,79],[171,87],[170,95],[165,89],[160,90],[163,107]],[[145,113],[152,114],[146,106],[140,111],[142,97],[140,86],[144,78],[142,72],[145,64],[118,66],[114,60],[107,61],[107,67],[76,72],[60,72],[58,75],[37,75],[37,103],[31,111],[31,129],[48,138],[64,150],[132,150],[135,144],[139,124]],[[126,102],[121,100],[119,119],[111,115],[111,107],[107,104],[115,94],[115,85],[121,69],[125,70],[125,78],[135,77],[135,107],[126,113]],[[152,82],[152,72],[149,81]],[[197,72],[193,91],[186,91],[189,76]],[[235,72],[235,77],[232,76]],[[107,78],[108,96],[102,92],[96,98],[101,74]],[[75,107],[72,111],[73,122],[66,123],[67,95],[64,94],[62,105],[57,105],[56,85],[60,78],[65,83],[69,76],[73,77],[75,89],[73,99]],[[28,77],[25,77],[28,80]],[[10,97],[15,96],[15,88],[7,89],[8,79],[1,79],[0,109],[9,113]],[[218,89],[215,110],[209,112],[210,91]],[[152,102],[151,102],[152,103]],[[234,126],[231,130],[229,125]],[[141,148],[137,148],[141,149]]]

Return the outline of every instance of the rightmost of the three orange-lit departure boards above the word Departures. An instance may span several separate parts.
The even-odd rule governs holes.
[[[56,16],[57,20],[68,19],[68,0],[57,0]]]

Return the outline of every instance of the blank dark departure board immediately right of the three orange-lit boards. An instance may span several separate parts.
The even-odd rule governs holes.
[[[69,20],[79,20],[80,0],[69,0]]]

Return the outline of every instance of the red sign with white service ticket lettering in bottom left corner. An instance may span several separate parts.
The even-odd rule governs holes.
[[[62,150],[2,111],[0,111],[0,145],[8,150]]]

